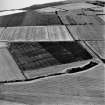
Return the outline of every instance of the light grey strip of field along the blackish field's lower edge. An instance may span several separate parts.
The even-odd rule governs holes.
[[[51,78],[51,77],[56,77],[57,75],[63,75],[66,74],[66,70],[70,69],[72,70],[72,68],[78,68],[84,65],[87,65],[91,60],[85,60],[85,61],[77,61],[77,62],[73,62],[73,63],[67,63],[67,64],[60,64],[60,65],[54,65],[54,66],[49,66],[49,67],[45,67],[45,68],[40,68],[38,70],[26,70],[24,71],[24,74],[26,75],[26,77],[28,79],[34,78],[36,81],[43,79],[44,76]],[[78,72],[78,71],[76,71]],[[42,77],[42,78],[41,78]],[[45,78],[46,78],[45,77]]]

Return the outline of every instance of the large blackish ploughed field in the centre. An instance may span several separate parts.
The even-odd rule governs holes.
[[[11,42],[8,50],[24,71],[92,59],[78,42]]]

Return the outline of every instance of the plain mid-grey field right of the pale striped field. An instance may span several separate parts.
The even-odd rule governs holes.
[[[76,40],[105,41],[105,25],[67,26]]]

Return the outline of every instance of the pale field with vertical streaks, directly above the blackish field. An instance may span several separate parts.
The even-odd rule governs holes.
[[[1,41],[73,41],[64,25],[0,28]]]

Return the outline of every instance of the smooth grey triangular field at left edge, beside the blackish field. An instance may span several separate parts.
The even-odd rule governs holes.
[[[8,50],[0,46],[0,82],[24,79]]]

